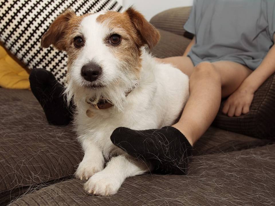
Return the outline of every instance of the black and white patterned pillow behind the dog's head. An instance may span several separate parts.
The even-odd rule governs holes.
[[[0,41],[29,69],[45,68],[64,84],[67,56],[52,46],[40,47],[41,37],[65,9],[76,15],[101,10],[121,11],[114,0],[0,0]]]

